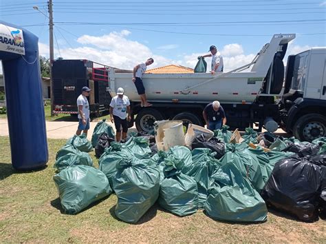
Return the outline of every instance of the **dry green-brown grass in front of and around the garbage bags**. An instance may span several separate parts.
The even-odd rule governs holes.
[[[214,221],[202,211],[180,218],[155,205],[130,225],[114,216],[114,194],[79,214],[63,214],[52,177],[65,141],[48,139],[47,167],[22,173],[11,166],[8,137],[0,136],[1,242],[326,242],[326,221],[302,223],[279,212],[269,212],[265,223],[239,224]]]

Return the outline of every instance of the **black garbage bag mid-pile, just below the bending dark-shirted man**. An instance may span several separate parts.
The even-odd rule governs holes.
[[[221,142],[217,137],[206,140],[203,134],[196,136],[191,144],[191,148],[209,148],[213,152],[216,152],[216,159],[221,159],[221,157],[226,153],[225,143]]]

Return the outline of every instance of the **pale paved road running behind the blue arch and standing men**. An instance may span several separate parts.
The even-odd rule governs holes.
[[[91,122],[90,124],[90,130],[87,134],[87,138],[91,139],[91,134],[93,134],[94,128],[98,122]],[[107,121],[109,125],[113,127],[113,130],[116,130],[114,128],[114,125]],[[67,121],[46,121],[46,128],[47,128],[47,138],[52,139],[68,139],[76,133],[76,129],[78,126],[78,122],[67,122]],[[135,126],[133,128],[130,128],[128,132],[131,131],[137,131],[135,129]],[[277,134],[288,137],[289,135],[286,134],[283,130],[279,129],[276,131]],[[8,132],[8,121],[7,119],[0,119],[0,136],[9,136]]]

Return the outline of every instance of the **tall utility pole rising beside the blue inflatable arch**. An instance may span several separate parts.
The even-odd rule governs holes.
[[[52,62],[54,60],[54,48],[53,48],[53,10],[52,0],[47,2],[49,10],[49,34],[50,34],[50,96],[51,96],[51,116],[54,116],[54,96],[53,96],[53,77],[52,77]]]

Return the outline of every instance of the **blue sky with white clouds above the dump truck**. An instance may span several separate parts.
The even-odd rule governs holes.
[[[47,16],[47,1],[0,0],[0,20],[36,34],[40,54],[48,58]],[[194,68],[197,57],[216,45],[230,71],[250,63],[279,33],[296,34],[287,55],[326,46],[326,1],[317,0],[53,0],[53,17],[55,59],[121,69],[149,57],[155,60],[149,68]]]

